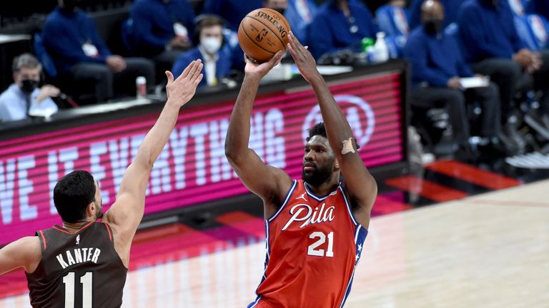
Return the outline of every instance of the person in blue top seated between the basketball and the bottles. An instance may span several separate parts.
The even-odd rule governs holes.
[[[365,37],[375,38],[372,13],[358,1],[330,0],[310,24],[309,48],[315,58],[344,48],[360,51]]]

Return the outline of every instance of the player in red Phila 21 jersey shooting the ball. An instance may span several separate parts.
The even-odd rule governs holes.
[[[293,34],[289,41],[288,49],[315,91],[325,124],[310,129],[302,180],[265,165],[248,148],[250,116],[259,81],[280,62],[282,52],[260,65],[247,61],[225,152],[242,183],[264,204],[266,266],[257,299],[248,307],[339,308],[360,260],[377,185],[315,59]]]

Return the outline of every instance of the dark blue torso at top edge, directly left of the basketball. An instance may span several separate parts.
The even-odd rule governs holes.
[[[232,31],[238,31],[240,21],[249,12],[262,7],[263,0],[205,0],[204,14],[215,14],[227,21]]]

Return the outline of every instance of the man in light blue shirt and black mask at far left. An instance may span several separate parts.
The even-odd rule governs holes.
[[[52,97],[59,96],[59,88],[46,85],[38,88],[41,64],[30,53],[14,59],[14,83],[0,95],[0,119],[4,122],[23,120],[31,115],[49,116],[58,111]]]

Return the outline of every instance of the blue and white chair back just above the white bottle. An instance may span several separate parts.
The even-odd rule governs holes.
[[[375,11],[375,19],[380,30],[387,36],[407,35],[410,33],[410,15],[400,6],[381,6]]]

